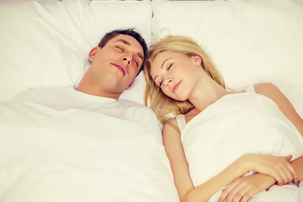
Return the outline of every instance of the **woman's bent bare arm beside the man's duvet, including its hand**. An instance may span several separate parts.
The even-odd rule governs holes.
[[[171,120],[175,122],[176,120]],[[181,135],[173,127],[165,124],[163,127],[163,143],[165,146],[167,157],[170,161],[175,186],[177,188],[181,202],[183,201],[208,201],[222,187],[227,186],[235,179],[242,177],[249,170],[264,174],[272,174],[275,179],[285,181],[285,177],[281,173],[292,173],[287,160],[288,157],[273,157],[266,155],[245,155],[233,162],[225,170],[213,177],[204,184],[194,188],[189,175],[189,168],[186,162],[183,146],[181,143]],[[256,156],[258,156],[256,158]],[[201,159],[203,161],[203,159]],[[206,165],[207,166],[207,165]]]

